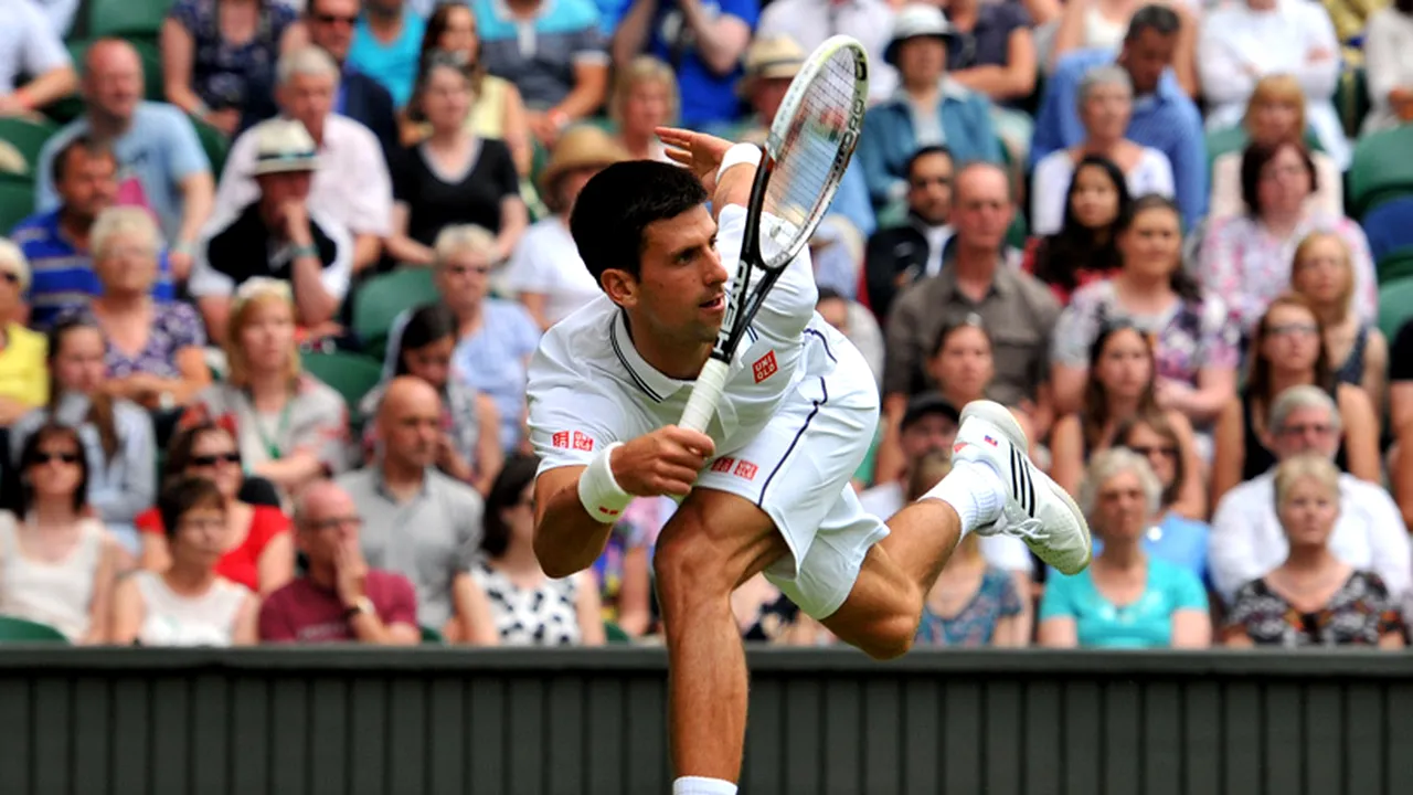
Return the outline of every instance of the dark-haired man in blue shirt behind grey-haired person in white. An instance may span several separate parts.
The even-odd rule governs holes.
[[[1197,224],[1207,214],[1207,141],[1197,105],[1183,93],[1170,69],[1181,24],[1167,6],[1145,6],[1133,14],[1118,57],[1108,50],[1084,50],[1061,58],[1046,82],[1036,116],[1030,166],[1051,151],[1084,143],[1077,106],[1080,81],[1094,66],[1118,64],[1133,82],[1128,137],[1167,156],[1183,219],[1188,228]]]

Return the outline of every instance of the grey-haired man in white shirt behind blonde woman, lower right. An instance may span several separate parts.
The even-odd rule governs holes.
[[[1291,386],[1270,407],[1276,461],[1301,453],[1334,458],[1340,446],[1340,410],[1318,386]],[[1228,604],[1236,588],[1286,560],[1289,542],[1276,515],[1275,468],[1226,492],[1212,516],[1208,566],[1212,586]],[[1407,528],[1389,492],[1351,474],[1340,475],[1340,519],[1330,552],[1355,569],[1375,571],[1395,600],[1413,586],[1413,550]]]

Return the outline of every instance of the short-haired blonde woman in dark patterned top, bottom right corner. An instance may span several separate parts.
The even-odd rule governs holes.
[[[1403,648],[1396,600],[1373,571],[1330,552],[1340,518],[1340,470],[1318,454],[1276,468],[1284,563],[1236,591],[1221,638],[1228,646]]]

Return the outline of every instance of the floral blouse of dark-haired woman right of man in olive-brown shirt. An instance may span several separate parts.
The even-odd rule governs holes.
[[[1197,385],[1204,368],[1235,368],[1241,331],[1221,298],[1208,293],[1200,303],[1178,300],[1163,314],[1139,315],[1119,306],[1113,282],[1095,282],[1074,291],[1054,334],[1054,362],[1089,366],[1089,347],[1105,324],[1128,320],[1157,341],[1157,375]]]

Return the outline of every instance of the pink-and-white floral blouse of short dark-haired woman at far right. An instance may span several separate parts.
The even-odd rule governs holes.
[[[1202,240],[1197,279],[1211,294],[1222,296],[1242,331],[1255,328],[1273,298],[1290,290],[1296,246],[1311,232],[1334,232],[1349,246],[1354,265],[1354,311],[1373,323],[1379,315],[1379,283],[1364,229],[1348,218],[1310,214],[1286,239],[1270,236],[1251,215],[1212,221]]]

